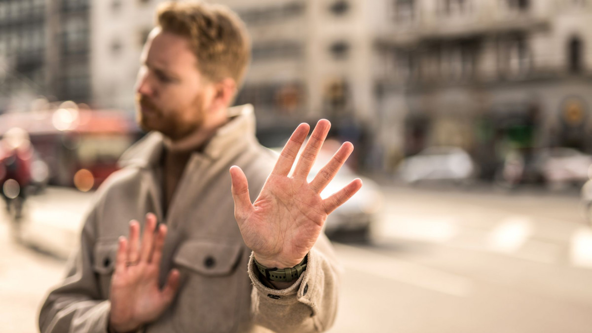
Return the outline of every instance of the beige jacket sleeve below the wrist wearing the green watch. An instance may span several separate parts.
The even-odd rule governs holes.
[[[249,260],[253,283],[252,312],[255,324],[276,332],[323,332],[335,321],[339,270],[333,248],[324,234],[308,252],[305,273],[288,289],[264,286]]]

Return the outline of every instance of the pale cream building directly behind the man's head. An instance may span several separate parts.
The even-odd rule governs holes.
[[[160,2],[94,1],[95,104],[133,110],[141,47]],[[321,114],[368,118],[374,110],[364,2],[211,2],[238,12],[252,36],[252,64],[237,103],[255,104],[260,126]]]

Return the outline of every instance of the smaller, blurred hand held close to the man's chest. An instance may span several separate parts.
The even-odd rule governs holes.
[[[130,222],[129,244],[124,236],[119,239],[115,273],[111,279],[109,325],[112,331],[134,331],[154,321],[175,297],[179,287],[178,270],[170,271],[162,290],[158,285],[166,226],[160,225],[156,235],[155,229],[156,216],[149,213],[141,247],[140,224],[135,220]]]

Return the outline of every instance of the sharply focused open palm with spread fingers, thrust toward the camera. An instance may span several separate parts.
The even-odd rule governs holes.
[[[349,142],[343,143],[310,183],[307,181],[330,126],[328,120],[318,121],[294,173],[288,175],[310,130],[308,124],[297,127],[253,204],[243,171],[230,168],[234,216],[244,243],[266,267],[287,268],[300,263],[317,241],[327,215],[362,187],[362,181],[356,178],[332,196],[324,200],[320,196],[352,153]]]

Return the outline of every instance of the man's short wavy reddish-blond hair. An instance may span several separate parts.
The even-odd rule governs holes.
[[[163,31],[189,40],[198,70],[211,81],[232,78],[242,84],[251,46],[244,23],[223,5],[201,1],[165,2],[156,12]]]

